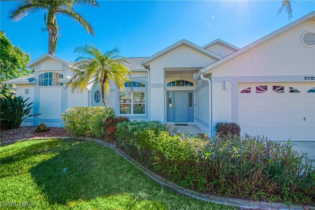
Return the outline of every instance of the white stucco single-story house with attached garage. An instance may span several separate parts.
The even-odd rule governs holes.
[[[315,12],[239,49],[217,39],[201,47],[185,39],[147,58],[129,58],[131,88],[111,84],[106,101],[131,120],[195,124],[216,134],[218,122],[272,140],[315,141]],[[74,106],[101,106],[92,84],[72,93],[70,62],[45,54],[34,74],[6,81],[34,102],[23,125],[63,126]]]

